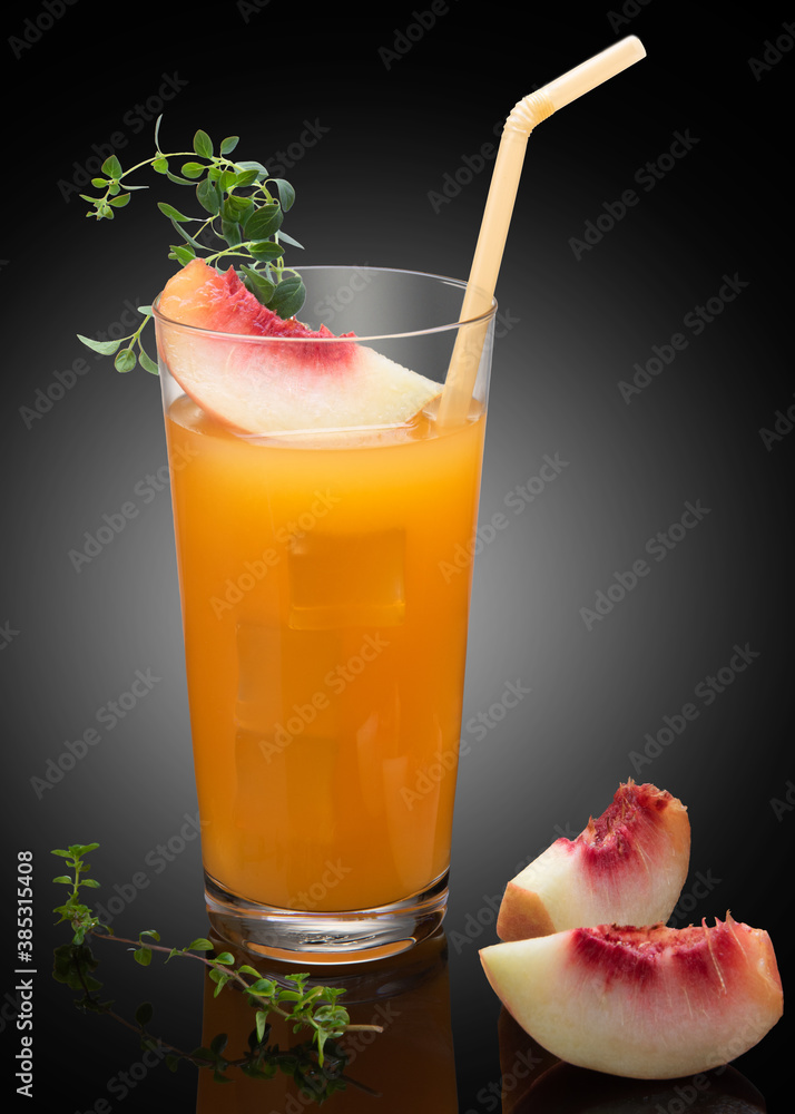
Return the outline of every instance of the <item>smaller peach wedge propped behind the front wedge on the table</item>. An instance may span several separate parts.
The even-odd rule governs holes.
[[[577,839],[556,840],[508,883],[497,935],[524,940],[583,925],[665,922],[689,861],[685,805],[630,779]]]

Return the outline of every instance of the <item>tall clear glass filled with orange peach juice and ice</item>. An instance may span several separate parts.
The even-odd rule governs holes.
[[[209,918],[266,955],[350,962],[444,915],[495,303],[459,322],[458,281],[301,274],[302,316],[355,340],[155,317]],[[239,433],[169,371],[186,344],[208,375],[356,344],[441,391],[459,335],[475,389],[443,428],[435,399],[401,424]]]

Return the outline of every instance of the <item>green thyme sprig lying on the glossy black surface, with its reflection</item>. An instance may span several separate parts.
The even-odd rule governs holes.
[[[78,1008],[108,1014],[128,1028],[138,1032],[144,1047],[158,1047],[158,1042],[146,1030],[151,1018],[151,1006],[148,1003],[138,1008],[136,1025],[132,1025],[111,1009],[112,1001],[100,1001],[96,997],[101,988],[101,983],[94,975],[99,961],[86,944],[87,937],[92,937],[98,940],[131,945],[134,959],[144,967],[148,967],[151,962],[155,951],[165,954],[166,962],[175,956],[198,960],[209,968],[209,978],[216,984],[216,997],[225,986],[232,984],[245,994],[248,1004],[255,1009],[255,1027],[249,1038],[249,1054],[243,1061],[232,1062],[224,1058],[226,1037],[223,1034],[215,1038],[209,1048],[197,1048],[190,1054],[180,1053],[160,1042],[160,1047],[169,1048],[166,1061],[171,1068],[176,1067],[178,1057],[181,1056],[192,1059],[197,1066],[212,1067],[216,1077],[225,1078],[224,1072],[229,1066],[239,1066],[247,1074],[257,1077],[269,1077],[268,1073],[273,1075],[277,1068],[283,1071],[289,1068],[291,1072],[296,1071],[302,1076],[306,1075],[311,1065],[305,1056],[301,1058],[296,1049],[292,1053],[279,1053],[278,1048],[274,1049],[264,1044],[269,1032],[268,1016],[272,1014],[291,1023],[294,1033],[302,1028],[312,1030],[305,1052],[308,1055],[308,1049],[316,1046],[316,1053],[313,1051],[312,1055],[316,1055],[316,1063],[321,1067],[324,1064],[326,1047],[332,1049],[335,1063],[344,1062],[341,1049],[334,1044],[344,1033],[357,1029],[382,1032],[380,1025],[352,1025],[347,1010],[338,1004],[340,997],[345,991],[338,987],[307,987],[310,978],[307,974],[285,976],[285,983],[288,985],[283,987],[274,979],[263,978],[259,971],[248,964],[235,967],[235,958],[228,951],[220,951],[212,958],[197,955],[196,952],[214,950],[214,945],[204,937],[193,940],[186,948],[167,948],[159,944],[160,936],[155,929],[144,929],[138,934],[137,940],[116,936],[112,929],[104,925],[85,903],[80,893],[81,888],[96,889],[99,886],[95,878],[85,877],[90,871],[90,863],[85,861],[85,857],[98,847],[98,843],[72,843],[66,850],[58,849],[52,852],[65,859],[73,871],[73,874],[59,874],[53,879],[58,885],[71,887],[67,900],[57,906],[53,912],[60,913],[57,924],[68,921],[73,934],[70,944],[56,949],[53,976],[59,983],[66,983],[73,990],[82,991],[82,997],[75,1003]]]

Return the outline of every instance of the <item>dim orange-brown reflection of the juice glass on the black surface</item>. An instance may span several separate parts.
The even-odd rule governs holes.
[[[218,944],[226,947],[219,939]],[[251,960],[243,952],[238,958]],[[265,977],[276,979],[297,969],[271,962],[256,966]],[[443,932],[389,960],[375,960],[365,968],[335,966],[331,978],[330,974],[327,967],[313,968],[316,983],[346,988],[341,1004],[352,1023],[381,1025],[383,1033],[351,1033],[333,1046],[327,1044],[330,1055],[320,1067],[316,1051],[308,1052],[307,1030],[294,1034],[281,1018],[273,1018],[266,1043],[278,1045],[279,1052],[297,1048],[294,1062],[282,1059],[284,1067],[271,1079],[251,1078],[233,1067],[227,1069],[233,1082],[217,1083],[212,1072],[203,1071],[196,1114],[301,1114],[324,1098],[331,1111],[344,1114],[457,1114]],[[226,1033],[225,1056],[235,1059],[248,1047],[254,1010],[230,986],[217,998],[214,990],[215,984],[207,979],[202,1044],[208,1047],[218,1033]],[[337,1058],[336,1053],[342,1056]],[[344,1094],[335,1094],[338,1091]]]

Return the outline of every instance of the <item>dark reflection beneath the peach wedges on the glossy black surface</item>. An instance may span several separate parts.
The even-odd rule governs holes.
[[[502,1114],[765,1114],[765,1100],[730,1066],[681,1079],[624,1079],[548,1053],[502,1007]]]

